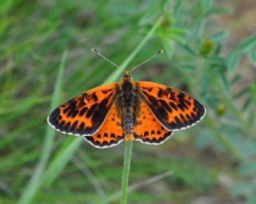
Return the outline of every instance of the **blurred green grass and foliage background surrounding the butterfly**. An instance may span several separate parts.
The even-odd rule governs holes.
[[[92,47],[127,68],[165,50],[134,79],[207,109],[161,146],[134,142],[129,203],[256,203],[255,1],[0,4],[0,203],[119,203],[124,144],[98,150],[46,124],[54,106],[120,79]]]

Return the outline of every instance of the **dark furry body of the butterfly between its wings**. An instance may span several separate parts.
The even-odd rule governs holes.
[[[116,99],[118,117],[122,121],[123,134],[133,138],[134,126],[140,110],[138,91],[131,80],[123,80],[119,84],[119,91]],[[128,140],[130,140],[127,137]]]

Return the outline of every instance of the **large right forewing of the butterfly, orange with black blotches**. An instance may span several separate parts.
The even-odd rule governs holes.
[[[167,130],[182,130],[199,122],[206,114],[198,100],[154,82],[136,82],[142,100]]]

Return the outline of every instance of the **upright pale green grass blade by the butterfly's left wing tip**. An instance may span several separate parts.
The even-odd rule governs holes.
[[[57,77],[57,82],[55,83],[55,86],[54,86],[54,94],[50,104],[50,110],[53,110],[55,106],[58,106],[58,102],[61,96],[62,75],[63,75],[64,65],[66,62],[66,56],[67,56],[67,52],[65,51],[64,54],[62,55],[62,61],[58,69],[58,77]],[[52,146],[53,146],[54,135],[55,135],[55,131],[47,124],[45,141],[42,146],[42,156],[38,162],[38,166],[34,170],[34,174],[30,178],[30,182],[26,186],[25,190],[22,193],[22,196],[18,201],[19,204],[30,203],[31,200],[34,198],[34,195],[36,194],[39,186],[41,185],[42,174],[46,168],[46,163],[48,162],[48,159],[50,157],[50,150],[52,149]]]

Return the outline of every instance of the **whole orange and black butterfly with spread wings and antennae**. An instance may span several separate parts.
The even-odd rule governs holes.
[[[126,70],[121,82],[71,98],[47,121],[64,134],[82,136],[95,147],[107,148],[123,140],[161,144],[174,131],[194,126],[205,114],[204,106],[189,94],[154,82],[134,82]]]

